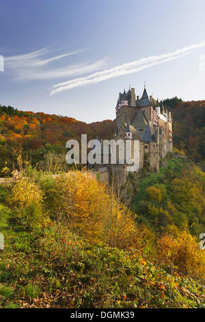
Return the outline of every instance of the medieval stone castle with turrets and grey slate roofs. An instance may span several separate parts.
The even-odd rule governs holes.
[[[152,96],[148,97],[146,86],[141,97],[135,97],[135,88],[119,93],[116,112],[115,140],[137,140],[135,168],[126,164],[96,164],[102,181],[108,181],[108,173],[115,172],[126,181],[129,171],[139,171],[148,164],[150,171],[159,171],[159,160],[172,152],[172,115]],[[106,179],[107,178],[107,179]]]

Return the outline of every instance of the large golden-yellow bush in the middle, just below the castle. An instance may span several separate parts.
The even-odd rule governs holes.
[[[141,232],[123,203],[90,173],[69,171],[55,182],[55,214],[89,241],[139,247]]]

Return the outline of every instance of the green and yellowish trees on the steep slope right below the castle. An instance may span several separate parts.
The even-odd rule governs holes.
[[[205,232],[205,173],[195,164],[167,156],[160,173],[139,174],[135,180],[139,186],[131,208],[139,223],[159,233],[189,230],[200,236]]]

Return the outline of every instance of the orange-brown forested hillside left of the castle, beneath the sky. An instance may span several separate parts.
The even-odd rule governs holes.
[[[111,138],[114,132],[115,121],[111,120],[87,124],[66,116],[0,106],[0,170],[5,162],[14,167],[13,160],[20,151],[24,160],[36,166],[48,153],[65,156],[70,138],[80,140],[81,134],[87,134],[88,140],[96,136]]]

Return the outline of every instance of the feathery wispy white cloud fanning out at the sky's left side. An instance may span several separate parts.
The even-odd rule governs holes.
[[[105,60],[98,60],[94,63],[83,62],[80,64],[68,64],[67,62],[67,64],[64,63],[59,68],[53,66],[53,63],[57,62],[57,60],[75,55],[79,52],[81,51],[72,51],[70,53],[45,58],[45,56],[51,55],[52,51],[51,49],[43,48],[23,55],[5,57],[5,70],[12,73],[17,80],[32,80],[82,75],[105,68]]]

